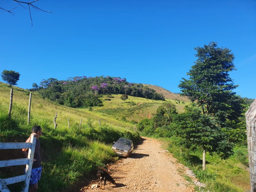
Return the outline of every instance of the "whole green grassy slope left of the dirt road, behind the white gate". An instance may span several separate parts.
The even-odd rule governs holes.
[[[132,139],[134,143],[139,140],[139,133],[133,131],[134,125],[129,122],[118,121],[93,109],[90,111],[56,105],[40,98],[37,93],[32,95],[31,120],[28,125],[29,92],[13,87],[11,119],[7,116],[9,100],[10,88],[0,83],[0,142],[24,142],[36,124],[43,130],[40,143],[44,168],[38,191],[76,189],[92,172],[117,158],[111,150],[113,141],[120,137]],[[56,112],[58,126],[54,129],[53,118]],[[67,118],[70,118],[69,128]],[[81,118],[83,121],[79,129]],[[0,160],[15,158],[23,158],[20,149],[1,151]],[[22,166],[0,169],[0,178],[21,174]],[[10,186],[11,191],[20,191],[21,185]]]

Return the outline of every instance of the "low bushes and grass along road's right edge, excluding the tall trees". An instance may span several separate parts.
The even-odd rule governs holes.
[[[168,116],[172,118],[172,121]],[[137,127],[142,136],[161,140],[165,149],[172,153],[172,156],[177,158],[179,163],[190,168],[195,173],[196,178],[206,185],[205,188],[195,186],[195,190],[249,191],[250,177],[246,138],[243,137],[243,141],[234,144],[232,155],[228,158],[223,158],[218,152],[206,152],[206,165],[205,170],[203,170],[203,147],[192,144],[180,136],[180,125],[177,122],[180,121],[179,116],[184,117],[184,114],[178,114],[174,104],[169,107],[163,104],[157,109],[153,119],[143,119]],[[186,175],[184,177],[191,181]]]

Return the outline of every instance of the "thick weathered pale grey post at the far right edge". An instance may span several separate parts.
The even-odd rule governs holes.
[[[245,113],[251,192],[256,192],[256,100]]]

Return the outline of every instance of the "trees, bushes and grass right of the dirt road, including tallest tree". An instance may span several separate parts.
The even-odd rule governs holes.
[[[173,156],[206,185],[197,191],[249,191],[244,115],[249,106],[232,91],[238,86],[228,74],[235,70],[234,55],[214,42],[195,50],[195,65],[179,85],[191,103],[182,113],[174,103],[164,103],[153,119],[139,122],[138,130],[168,143]]]

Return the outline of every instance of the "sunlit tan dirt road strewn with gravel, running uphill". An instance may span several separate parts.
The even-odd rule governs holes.
[[[171,154],[161,148],[161,143],[144,137],[129,158],[121,158],[116,164],[108,166],[106,171],[116,181],[116,185],[107,181],[104,191],[194,191],[193,186],[180,175],[184,170],[182,164],[176,163]],[[92,184],[98,184],[98,187],[92,189]],[[92,184],[80,191],[100,191],[99,180]]]

